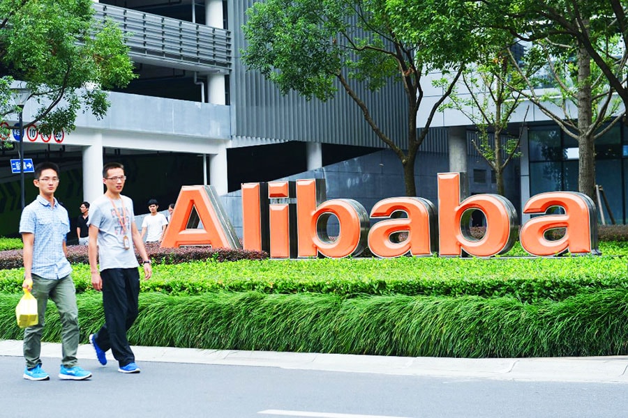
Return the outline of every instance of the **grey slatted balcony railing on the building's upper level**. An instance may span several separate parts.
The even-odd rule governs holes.
[[[96,19],[110,18],[127,34],[135,62],[204,72],[229,72],[231,33],[203,24],[94,3]]]

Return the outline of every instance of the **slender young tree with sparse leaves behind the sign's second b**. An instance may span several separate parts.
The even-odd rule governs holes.
[[[523,77],[511,64],[507,51],[479,54],[477,64],[463,72],[464,94],[454,90],[450,102],[442,106],[442,109],[457,109],[477,127],[478,138],[471,144],[495,171],[497,192],[501,195],[504,195],[504,169],[518,155],[521,141],[521,132],[508,134],[508,125],[521,104],[521,90],[525,88]]]

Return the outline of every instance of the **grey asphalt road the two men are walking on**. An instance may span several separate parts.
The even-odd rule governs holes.
[[[22,357],[0,356],[0,417],[627,417],[627,385],[599,382],[439,378],[140,362],[126,375],[115,363],[82,359],[87,381],[22,378]]]

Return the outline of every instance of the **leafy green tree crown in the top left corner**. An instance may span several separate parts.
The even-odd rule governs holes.
[[[26,126],[73,130],[79,109],[103,118],[107,88],[126,86],[133,64],[121,31],[94,20],[91,0],[0,0],[0,115],[15,113],[13,80],[39,107]],[[85,110],[84,110],[85,111]]]

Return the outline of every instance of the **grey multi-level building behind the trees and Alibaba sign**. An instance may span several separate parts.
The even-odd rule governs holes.
[[[242,65],[240,28],[252,4],[253,0],[94,2],[96,17],[114,20],[128,36],[137,79],[110,93],[110,111],[103,120],[82,114],[73,132],[51,140],[33,131],[24,139],[24,157],[60,164],[57,196],[70,217],[79,214],[81,201],[103,193],[101,169],[110,161],[125,164],[125,194],[135,200],[136,213],[147,212],[146,202],[153,198],[164,209],[177,199],[182,185],[209,184],[223,196],[237,228],[241,183],[325,178],[329,198],[357,199],[367,210],[375,201],[403,195],[401,162],[377,139],[350,98],[339,94],[323,103],[295,93],[284,96]],[[406,109],[401,88],[360,93],[382,130],[403,141]],[[425,93],[427,100],[431,93],[436,100],[440,92],[427,88]],[[26,123],[32,106],[27,103],[24,108]],[[468,124],[453,111],[444,111],[435,121],[417,157],[419,196],[435,202],[436,173],[450,170],[468,172],[472,193],[495,192],[493,173],[469,145],[474,133]],[[560,137],[551,123],[534,116],[528,125],[521,164],[516,160],[506,173],[506,194],[518,210],[530,194],[573,189],[577,164],[539,151],[553,147],[556,135]],[[618,127],[615,137],[619,142],[613,143],[615,153],[608,157],[623,179],[627,148],[622,144],[628,144],[624,127]],[[571,147],[563,142],[559,147]],[[11,158],[17,158],[16,150],[1,151],[0,235],[16,235],[20,216],[19,177],[10,173]],[[36,192],[30,184],[28,179],[27,201]],[[624,220],[625,181],[618,185],[616,179],[601,178],[600,184],[607,196],[613,195],[615,217]]]

